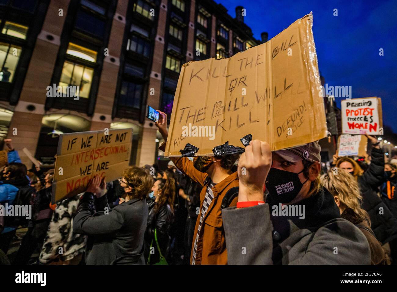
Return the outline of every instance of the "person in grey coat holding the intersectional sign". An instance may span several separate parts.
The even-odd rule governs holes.
[[[110,209],[106,182],[94,176],[77,207],[73,232],[88,235],[85,263],[89,265],[145,264],[145,198],[153,179],[143,168],[132,166],[124,170],[120,185],[126,193],[125,201]]]

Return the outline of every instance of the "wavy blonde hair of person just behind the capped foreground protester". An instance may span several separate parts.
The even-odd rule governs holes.
[[[350,208],[362,220],[371,226],[368,213],[361,208],[362,197],[357,180],[342,168],[334,168],[321,176],[321,183],[333,196],[337,196],[342,205]]]

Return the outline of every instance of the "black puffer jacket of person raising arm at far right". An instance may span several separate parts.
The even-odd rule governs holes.
[[[368,212],[371,228],[378,240],[385,244],[397,238],[397,219],[378,196],[378,187],[384,182],[384,154],[382,149],[372,148],[371,164],[358,177],[358,186],[362,195],[362,208]]]

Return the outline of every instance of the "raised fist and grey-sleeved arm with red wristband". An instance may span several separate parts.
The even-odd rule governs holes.
[[[238,164],[239,202],[263,201],[263,188],[272,165],[266,142],[254,140]],[[272,264],[272,222],[269,205],[222,210],[229,264]]]

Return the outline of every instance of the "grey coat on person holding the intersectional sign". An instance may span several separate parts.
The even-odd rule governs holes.
[[[73,232],[88,236],[85,263],[144,265],[143,237],[147,218],[145,200],[131,199],[109,209],[106,195],[95,199],[92,193],[86,192],[73,219]]]

